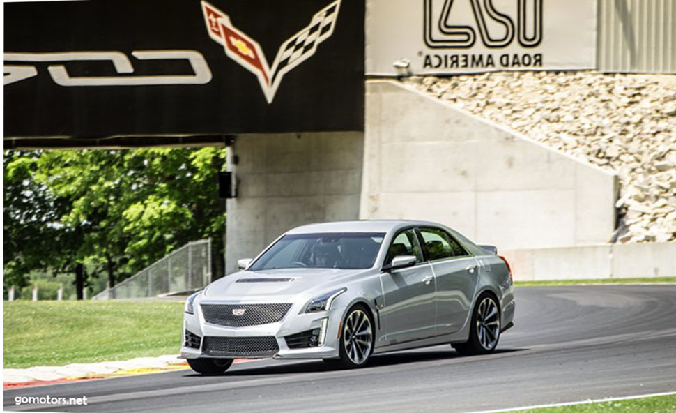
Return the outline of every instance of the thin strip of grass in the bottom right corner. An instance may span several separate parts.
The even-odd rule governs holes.
[[[532,410],[519,410],[518,413],[676,413],[676,395],[613,400],[584,405],[541,407]]]

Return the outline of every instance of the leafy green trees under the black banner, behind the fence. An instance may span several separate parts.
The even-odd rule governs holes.
[[[72,271],[81,298],[87,269],[91,276],[106,273],[112,286],[171,250],[206,237],[213,239],[214,275],[223,275],[225,214],[217,197],[217,172],[224,166],[224,148],[5,155],[6,188],[8,176],[17,187],[6,192],[6,204],[13,203],[15,216],[31,211],[40,217],[31,227],[22,227],[25,218],[13,218],[8,227],[6,211],[5,269],[15,277],[47,266]],[[40,197],[33,191],[15,199],[22,195],[19,182],[40,189]],[[56,204],[59,208],[52,208]],[[54,234],[43,238],[50,230]],[[9,255],[8,235],[13,243]],[[41,253],[47,252],[47,260],[38,260],[38,251],[25,247],[36,238],[43,239]]]

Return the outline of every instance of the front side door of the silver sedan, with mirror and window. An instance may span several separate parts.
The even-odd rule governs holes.
[[[414,255],[417,260],[414,266],[381,273],[385,345],[433,336],[436,328],[434,276],[413,228],[394,236],[385,264],[397,255]]]

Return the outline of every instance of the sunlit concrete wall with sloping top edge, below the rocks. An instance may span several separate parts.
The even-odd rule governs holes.
[[[605,243],[617,177],[389,81],[367,82],[360,218],[445,223],[501,249]]]

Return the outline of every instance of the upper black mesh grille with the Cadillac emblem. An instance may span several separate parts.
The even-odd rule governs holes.
[[[204,320],[210,324],[248,327],[282,320],[291,304],[202,304],[201,308]]]

